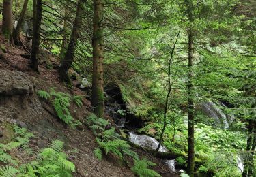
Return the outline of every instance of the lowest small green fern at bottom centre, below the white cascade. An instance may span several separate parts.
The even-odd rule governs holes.
[[[147,159],[134,161],[132,172],[134,172],[134,174],[137,174],[140,177],[160,177],[160,174],[149,168],[154,165],[156,164],[151,161],[148,161]]]

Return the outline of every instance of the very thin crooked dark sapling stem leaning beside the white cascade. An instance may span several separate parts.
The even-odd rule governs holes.
[[[159,140],[159,144],[156,148],[156,152],[158,152],[161,144],[162,144],[162,137],[165,133],[165,129],[166,129],[166,126],[167,126],[167,110],[168,110],[168,102],[169,102],[169,97],[171,95],[171,61],[173,60],[173,54],[174,54],[174,50],[175,50],[175,46],[177,44],[177,39],[179,39],[179,36],[180,36],[180,29],[177,33],[177,37],[176,37],[176,40],[175,40],[175,43],[173,44],[173,49],[171,50],[171,58],[169,59],[169,67],[168,67],[168,92],[167,92],[167,97],[165,99],[165,112],[164,112],[164,125],[162,126],[162,132],[160,134],[160,140]]]

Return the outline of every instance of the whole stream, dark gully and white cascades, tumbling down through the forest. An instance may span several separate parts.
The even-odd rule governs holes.
[[[126,103],[122,99],[122,94],[119,89],[119,86],[112,86],[105,89],[106,95],[108,96],[105,102],[105,112],[111,118],[113,118],[115,125],[120,129],[128,130],[130,142],[137,144],[143,148],[149,148],[156,150],[159,142],[155,138],[152,138],[148,135],[139,135],[136,133],[137,129],[143,127],[144,122],[139,118],[136,118],[133,114],[129,113],[129,110],[126,108]],[[199,105],[199,111],[201,111],[205,116],[212,118],[214,120],[215,127],[222,127],[223,129],[229,129],[231,123],[233,123],[233,115],[225,114],[221,108],[226,106],[221,103],[205,102]],[[165,146],[160,146],[158,152],[169,152]],[[176,172],[180,174],[184,170],[177,170],[175,167],[175,159],[163,160],[168,167],[170,172]],[[237,165],[242,172],[244,170],[243,160],[238,155]],[[178,172],[177,172],[178,171]]]

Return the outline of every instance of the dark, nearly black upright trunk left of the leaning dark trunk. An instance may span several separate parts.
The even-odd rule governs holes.
[[[31,49],[31,67],[38,73],[38,52],[40,46],[41,20],[42,0],[33,0],[33,39]]]

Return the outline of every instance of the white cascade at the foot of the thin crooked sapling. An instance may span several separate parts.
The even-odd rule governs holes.
[[[134,132],[129,132],[130,135],[130,141],[134,144],[137,144],[143,148],[151,148],[153,150],[156,150],[159,142],[155,138],[152,138],[147,135],[137,135]],[[160,146],[159,152],[169,152],[165,146]]]

